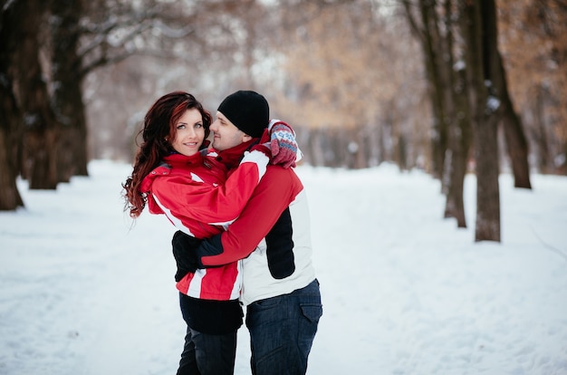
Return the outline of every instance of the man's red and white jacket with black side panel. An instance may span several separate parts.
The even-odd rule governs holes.
[[[195,251],[204,267],[242,259],[240,301],[248,305],[315,279],[310,222],[306,193],[293,168],[268,166],[238,220]]]

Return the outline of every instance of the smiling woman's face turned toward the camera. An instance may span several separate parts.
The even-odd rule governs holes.
[[[171,142],[173,149],[185,156],[195,155],[205,139],[201,112],[196,109],[187,110],[179,118],[175,128],[175,139]]]

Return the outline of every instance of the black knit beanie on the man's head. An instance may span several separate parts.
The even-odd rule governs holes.
[[[250,137],[262,137],[270,122],[270,107],[255,91],[236,91],[220,103],[218,110]]]

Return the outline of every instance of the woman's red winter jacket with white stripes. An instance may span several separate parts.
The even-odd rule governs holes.
[[[242,155],[242,149],[234,150],[234,155]],[[228,154],[225,158],[210,153],[168,156],[142,182],[149,212],[166,215],[189,236],[205,238],[220,233],[240,215],[269,161],[261,151],[246,152],[239,167],[226,178],[226,162],[234,162],[234,157]],[[191,297],[224,301],[238,298],[241,282],[240,263],[233,262],[187,274],[177,287]]]

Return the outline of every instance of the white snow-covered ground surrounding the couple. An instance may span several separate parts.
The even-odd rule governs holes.
[[[0,374],[175,373],[185,334],[169,241],[134,226],[120,183],[130,166],[29,191],[0,213]],[[567,178],[500,178],[502,244],[474,243],[442,218],[439,182],[382,165],[297,168],[310,198],[323,316],[309,374],[567,374]],[[250,373],[247,331],[236,374]]]

